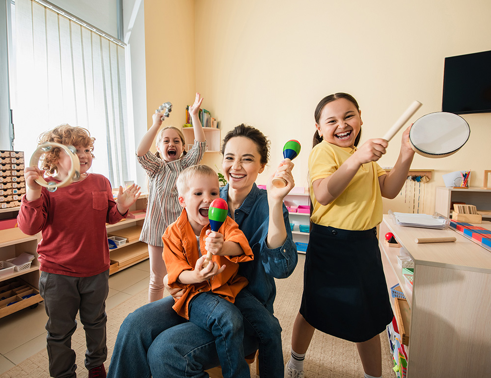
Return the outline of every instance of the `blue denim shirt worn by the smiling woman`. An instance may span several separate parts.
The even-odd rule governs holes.
[[[228,199],[228,184],[220,188],[220,197]],[[228,211],[230,216],[230,210]],[[234,219],[244,232],[254,253],[254,260],[240,263],[239,274],[249,280],[246,288],[273,313],[276,297],[274,278],[286,278],[297,266],[297,247],[293,242],[288,210],[283,204],[283,218],[287,238],[278,248],[266,245],[269,226],[269,206],[267,192],[253,184],[240,208],[235,210]],[[274,277],[274,278],[273,278]]]

